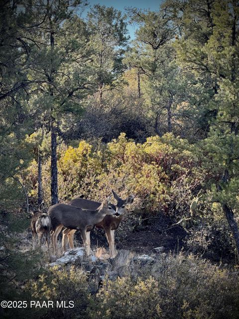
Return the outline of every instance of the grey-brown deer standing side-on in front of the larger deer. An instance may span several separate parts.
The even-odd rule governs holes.
[[[57,237],[63,227],[70,230],[80,230],[86,255],[90,254],[90,231],[100,223],[106,215],[116,213],[115,205],[110,203],[111,195],[102,204],[93,209],[82,209],[67,204],[56,204],[49,208],[52,232],[51,242],[54,251],[57,251]],[[62,242],[63,253],[66,251],[66,242]]]

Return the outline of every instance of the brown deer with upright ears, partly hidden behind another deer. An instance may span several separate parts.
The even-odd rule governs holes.
[[[115,230],[119,227],[119,224],[121,220],[123,219],[124,213],[125,213],[125,206],[132,203],[134,196],[129,195],[126,199],[121,199],[117,193],[112,189],[112,193],[117,200],[117,205],[116,205],[116,214],[114,216],[112,215],[107,215],[105,218],[96,224],[96,227],[98,228],[104,228],[107,236],[107,240],[109,243],[110,247],[110,256],[115,256],[116,251],[115,251]],[[73,199],[69,202],[69,205],[83,208],[83,209],[96,209],[101,205],[100,202],[93,201],[93,200],[87,200],[84,198],[76,198]],[[66,228],[63,230],[63,238],[62,242],[66,246],[66,237],[68,238],[68,242],[70,245],[70,248],[74,248],[74,243],[73,243],[73,237],[75,234],[76,230],[74,229],[69,229]],[[88,241],[90,243],[90,234],[88,235]],[[90,244],[89,244],[90,245]]]

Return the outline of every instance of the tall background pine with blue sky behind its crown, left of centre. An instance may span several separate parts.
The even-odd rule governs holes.
[[[125,15],[113,7],[94,5],[88,13],[87,25],[93,46],[94,85],[100,100],[107,86],[112,89],[123,71],[122,57],[127,44]],[[108,89],[109,89],[108,88]]]

